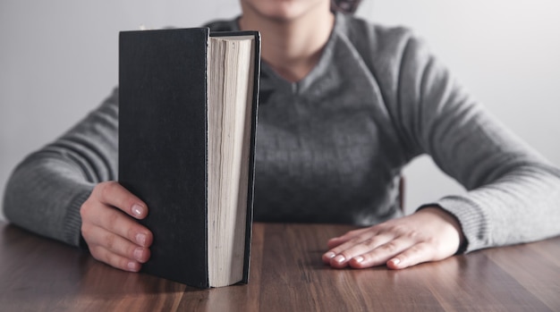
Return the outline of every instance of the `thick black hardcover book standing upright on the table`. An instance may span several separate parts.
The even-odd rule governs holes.
[[[257,31],[119,34],[119,182],[148,205],[141,271],[246,283],[259,102]]]

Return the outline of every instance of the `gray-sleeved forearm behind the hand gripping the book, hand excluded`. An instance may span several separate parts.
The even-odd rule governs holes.
[[[92,188],[72,165],[38,152],[22,162],[8,181],[4,214],[31,232],[78,246],[80,207]]]

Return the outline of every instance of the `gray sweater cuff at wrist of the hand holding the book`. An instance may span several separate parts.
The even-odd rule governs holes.
[[[73,198],[66,215],[64,215],[64,242],[72,246],[87,248],[85,241],[81,237],[81,205],[89,198],[93,188],[81,190],[81,192]]]

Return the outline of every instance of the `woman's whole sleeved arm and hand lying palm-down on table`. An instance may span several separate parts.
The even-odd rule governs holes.
[[[404,149],[432,156],[468,192],[329,240],[325,263],[404,268],[560,234],[560,171],[488,114],[420,40],[394,46],[402,50],[375,55],[386,66],[377,78],[395,90],[386,106]]]

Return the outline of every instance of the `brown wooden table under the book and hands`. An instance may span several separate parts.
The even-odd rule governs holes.
[[[560,311],[560,238],[401,271],[323,265],[351,228],[256,223],[250,283],[199,290],[0,223],[0,311]]]

